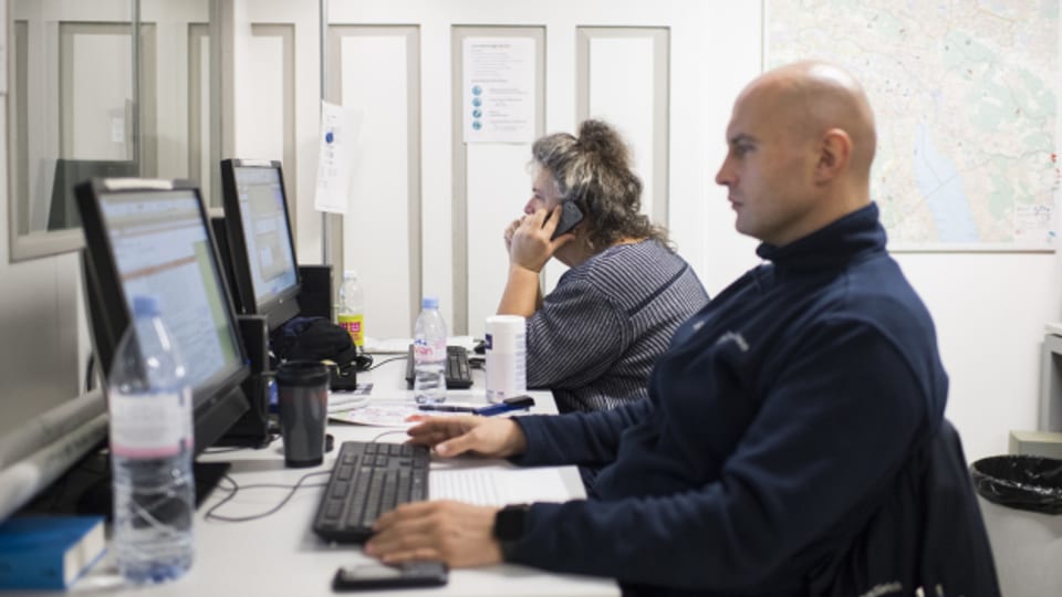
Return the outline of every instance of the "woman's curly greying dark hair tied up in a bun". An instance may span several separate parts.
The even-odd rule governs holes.
[[[561,200],[574,201],[584,214],[593,252],[624,238],[656,239],[669,244],[667,230],[655,226],[642,208],[642,180],[631,170],[631,151],[620,134],[601,121],[585,121],[579,138],[546,135],[531,148],[533,164],[553,175]]]

